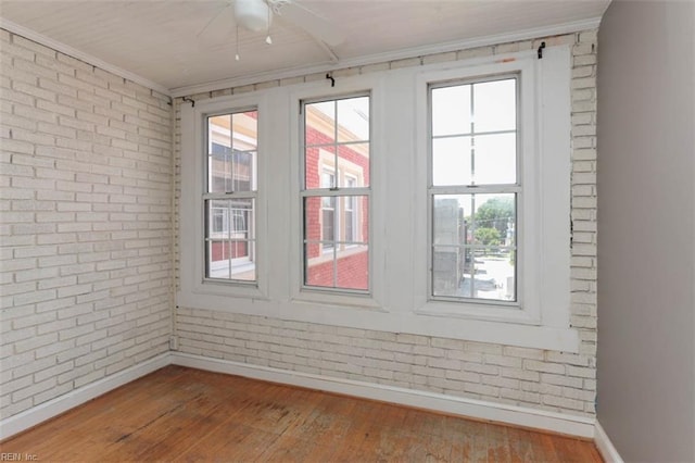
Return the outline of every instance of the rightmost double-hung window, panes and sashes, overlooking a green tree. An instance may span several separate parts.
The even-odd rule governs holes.
[[[430,85],[430,298],[518,303],[517,76]]]

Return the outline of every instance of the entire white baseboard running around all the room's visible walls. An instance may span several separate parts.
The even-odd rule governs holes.
[[[601,425],[591,417],[250,365],[174,351],[163,353],[139,365],[131,366],[123,372],[0,421],[0,439],[7,439],[169,364],[344,393],[348,396],[416,406],[477,420],[549,430],[570,436],[595,438],[596,445],[606,461],[622,463],[620,455],[610,443]]]

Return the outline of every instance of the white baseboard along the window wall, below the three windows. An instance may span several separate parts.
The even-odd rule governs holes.
[[[595,420],[585,416],[533,410],[503,403],[465,399],[441,393],[412,390],[351,379],[331,378],[266,366],[249,365],[206,356],[172,352],[172,363],[191,368],[226,373],[254,379],[282,383],[329,392],[397,403],[478,420],[561,433],[584,438],[594,437]]]

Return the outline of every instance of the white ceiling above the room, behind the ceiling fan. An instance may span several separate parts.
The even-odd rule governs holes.
[[[184,95],[215,83],[414,57],[492,38],[561,34],[584,23],[595,27],[610,0],[295,1],[328,21],[344,41],[329,47],[279,15],[270,28],[273,45],[265,42],[265,32],[240,29],[237,46],[233,25],[215,21],[218,30],[206,28],[223,10],[233,21],[230,0],[0,0],[0,25]]]

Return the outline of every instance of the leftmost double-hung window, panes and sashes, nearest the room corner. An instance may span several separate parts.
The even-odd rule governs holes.
[[[256,281],[256,110],[205,117],[205,278]]]

